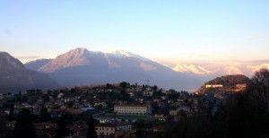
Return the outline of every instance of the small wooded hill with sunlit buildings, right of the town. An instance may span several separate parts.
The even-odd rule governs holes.
[[[249,78],[242,74],[224,75],[209,82],[205,82],[197,93],[225,93],[238,92],[246,89]]]

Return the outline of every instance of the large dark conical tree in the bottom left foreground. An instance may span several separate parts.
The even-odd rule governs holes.
[[[22,109],[19,115],[16,117],[16,125],[13,129],[14,138],[35,138],[35,128],[32,124],[32,118],[28,109]]]

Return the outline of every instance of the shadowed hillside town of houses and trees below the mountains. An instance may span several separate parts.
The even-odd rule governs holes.
[[[0,137],[13,136],[26,127],[18,119],[23,115],[30,117],[36,137],[161,137],[169,126],[186,118],[215,116],[227,96],[244,91],[246,84],[224,90],[222,84],[207,83],[203,88],[215,92],[189,93],[120,82],[2,93],[0,124],[5,131]]]

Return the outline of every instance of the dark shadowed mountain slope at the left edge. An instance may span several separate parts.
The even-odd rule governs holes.
[[[0,52],[0,76],[0,93],[58,87],[48,74],[28,70],[5,52]]]

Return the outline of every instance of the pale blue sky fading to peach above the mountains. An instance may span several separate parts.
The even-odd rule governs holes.
[[[269,59],[268,0],[0,0],[0,51],[53,57],[75,47],[148,58]]]

